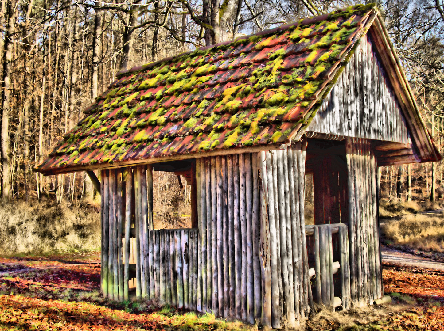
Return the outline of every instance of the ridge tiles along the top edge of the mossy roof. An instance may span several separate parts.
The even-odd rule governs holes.
[[[137,72],[137,71],[141,71],[141,70],[146,70],[146,69],[151,68],[153,66],[156,66],[156,65],[158,65],[160,63],[173,61],[174,59],[180,58],[180,57],[182,57],[184,55],[191,55],[193,53],[198,53],[200,51],[208,51],[210,49],[214,49],[214,48],[218,48],[218,47],[229,46],[230,44],[241,42],[242,40],[248,40],[248,39],[250,39],[251,37],[254,37],[254,36],[265,36],[265,35],[269,35],[269,34],[274,34],[274,33],[279,32],[279,31],[285,31],[285,30],[287,30],[287,29],[289,29],[291,27],[311,25],[313,23],[317,23],[317,22],[320,22],[320,21],[323,21],[323,20],[331,19],[331,18],[333,18],[332,16],[342,17],[343,15],[341,15],[341,14],[344,13],[344,12],[349,12],[349,16],[351,16],[355,12],[358,12],[358,11],[360,11],[360,12],[361,11],[367,12],[367,11],[369,11],[371,9],[379,10],[377,8],[377,4],[376,3],[357,4],[357,5],[349,6],[349,7],[346,7],[346,8],[338,9],[338,10],[336,10],[334,12],[329,12],[329,13],[318,15],[318,16],[311,16],[311,17],[307,17],[307,18],[304,18],[304,19],[299,19],[299,21],[297,21],[297,22],[291,22],[291,23],[282,24],[279,27],[274,27],[272,29],[258,31],[256,33],[251,34],[251,35],[246,35],[246,36],[238,37],[238,38],[236,38],[234,40],[227,40],[227,41],[224,41],[224,42],[221,42],[221,43],[217,43],[217,44],[214,44],[214,45],[202,46],[202,47],[196,48],[193,51],[183,52],[183,53],[180,53],[178,55],[173,55],[173,56],[169,56],[169,57],[166,57],[166,58],[162,58],[162,59],[154,61],[154,62],[149,62],[147,64],[143,64],[143,65],[140,65],[140,66],[134,66],[134,67],[131,67],[130,69],[120,70],[115,75],[116,80],[114,82],[112,82],[108,86],[108,89],[111,89],[111,86],[113,86],[117,81],[119,81],[119,78],[123,74],[133,73],[133,72]]]

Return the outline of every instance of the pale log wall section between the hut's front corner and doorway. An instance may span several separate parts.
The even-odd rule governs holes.
[[[309,285],[304,226],[306,143],[259,153],[263,319],[272,327],[308,317]]]

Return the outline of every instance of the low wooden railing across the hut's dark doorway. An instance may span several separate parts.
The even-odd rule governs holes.
[[[328,308],[350,305],[349,237],[346,224],[305,226],[313,300]]]

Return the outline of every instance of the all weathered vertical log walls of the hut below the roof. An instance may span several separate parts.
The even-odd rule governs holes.
[[[315,226],[308,234],[313,241],[309,251],[305,153],[302,142],[281,150],[196,159],[193,229],[153,230],[152,167],[102,171],[103,295],[127,300],[135,288],[138,299],[294,327],[313,307],[310,254],[321,280],[313,285],[317,303],[335,301],[335,261],[341,265],[337,291],[343,293],[343,306],[373,302],[382,295],[382,283],[371,144],[347,140],[348,231],[339,226],[332,240],[331,226]],[[333,253],[338,248],[341,254]]]

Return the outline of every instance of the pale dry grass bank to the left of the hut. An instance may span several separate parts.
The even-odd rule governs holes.
[[[99,204],[19,201],[0,206],[0,254],[93,251],[100,247]]]

